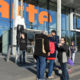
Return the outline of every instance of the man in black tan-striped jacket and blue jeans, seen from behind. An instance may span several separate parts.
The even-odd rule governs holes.
[[[40,80],[44,79],[46,57],[48,56],[48,54],[50,54],[49,52],[50,50],[48,36],[44,34],[36,34],[34,57],[37,60],[37,78]]]

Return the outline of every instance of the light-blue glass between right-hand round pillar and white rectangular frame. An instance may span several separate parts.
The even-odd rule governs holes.
[[[66,38],[67,44],[70,44],[70,16],[69,11],[70,9],[62,6],[62,14],[61,14],[61,34],[62,37]]]

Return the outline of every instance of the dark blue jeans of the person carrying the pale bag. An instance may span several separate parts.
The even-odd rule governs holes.
[[[61,64],[61,69],[62,69],[61,80],[69,80],[69,74],[66,68],[66,63]]]

